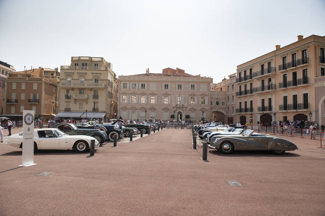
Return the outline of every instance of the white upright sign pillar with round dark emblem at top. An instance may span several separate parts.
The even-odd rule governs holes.
[[[21,166],[36,164],[34,163],[34,113],[33,110],[23,110]]]

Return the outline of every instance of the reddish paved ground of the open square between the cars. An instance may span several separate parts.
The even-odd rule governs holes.
[[[204,162],[190,134],[164,129],[93,157],[41,150],[29,167],[1,144],[0,215],[325,215],[319,140],[286,137],[299,150],[281,156],[209,151]]]

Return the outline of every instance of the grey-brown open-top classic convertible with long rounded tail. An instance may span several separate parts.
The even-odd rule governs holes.
[[[224,154],[230,154],[234,150],[267,150],[277,155],[281,155],[285,151],[298,149],[298,147],[289,140],[272,136],[252,137],[251,135],[253,132],[253,130],[247,129],[241,134],[214,136],[216,139],[208,145],[208,148],[219,150]]]

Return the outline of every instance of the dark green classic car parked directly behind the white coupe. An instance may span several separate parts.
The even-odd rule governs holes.
[[[107,139],[107,135],[106,133],[97,130],[97,129],[81,129],[76,127],[74,124],[72,123],[59,123],[56,125],[53,125],[51,128],[58,128],[61,131],[63,131],[66,134],[69,135],[86,135],[86,136],[91,136],[95,139],[97,139],[97,141],[99,143],[103,143],[106,141]]]

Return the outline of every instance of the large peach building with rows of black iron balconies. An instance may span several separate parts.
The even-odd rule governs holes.
[[[271,121],[323,121],[325,38],[311,35],[237,66],[237,119],[253,125]],[[315,102],[315,95],[317,102]],[[321,120],[322,119],[322,120]]]

